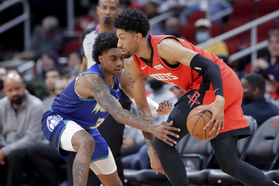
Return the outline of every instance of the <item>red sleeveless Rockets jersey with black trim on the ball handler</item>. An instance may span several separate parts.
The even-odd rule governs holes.
[[[133,55],[140,73],[147,74],[157,80],[164,81],[171,85],[176,85],[183,88],[184,90],[214,90],[205,71],[202,71],[198,67],[192,69],[191,67],[183,65],[182,63],[177,65],[169,65],[167,62],[164,62],[164,59],[160,58],[157,53],[157,44],[164,38],[176,37],[171,35],[148,35],[147,37],[151,47],[150,63],[146,62],[144,58],[139,58],[137,55]],[[196,51],[197,53],[219,65],[223,80],[223,90],[229,90],[233,88],[232,82],[235,78],[237,78],[237,76],[234,71],[223,62],[223,60],[219,59],[217,56],[209,53],[208,51],[194,46],[190,42],[179,38],[176,39],[182,44],[183,47]],[[237,81],[239,81],[238,78]]]

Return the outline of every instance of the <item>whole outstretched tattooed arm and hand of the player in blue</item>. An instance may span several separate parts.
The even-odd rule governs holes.
[[[78,95],[82,97],[94,98],[117,122],[150,132],[165,142],[167,140],[174,141],[167,135],[176,136],[176,134],[169,130],[178,130],[177,128],[168,126],[166,122],[154,126],[123,109],[117,99],[110,94],[108,84],[97,74],[85,74],[81,76],[76,82],[76,90]],[[170,122],[171,124],[172,122]]]

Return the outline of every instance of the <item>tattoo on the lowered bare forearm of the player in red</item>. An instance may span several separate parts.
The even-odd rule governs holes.
[[[152,115],[146,115],[146,112],[141,108],[138,108],[138,111],[139,111],[140,119],[153,124]],[[152,143],[153,143],[154,136],[151,133],[148,133],[145,131],[142,131],[142,134],[143,134],[145,142],[146,142],[147,151],[153,151],[154,147],[153,147]]]

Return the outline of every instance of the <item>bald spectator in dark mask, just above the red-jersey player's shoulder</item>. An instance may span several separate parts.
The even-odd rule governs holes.
[[[181,25],[179,20],[176,17],[170,17],[165,23],[164,35],[173,35],[174,37],[185,39],[183,38],[183,36],[180,35],[180,29]]]

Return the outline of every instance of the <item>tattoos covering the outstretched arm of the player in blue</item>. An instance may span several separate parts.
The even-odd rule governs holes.
[[[105,81],[92,79],[89,83],[90,91],[94,96],[94,99],[112,116],[117,116],[120,119],[119,122],[140,130],[149,131],[149,123],[153,123],[152,118],[148,119],[149,117],[144,116],[144,120],[139,119],[131,112],[123,109],[115,97],[110,94],[108,84]]]

